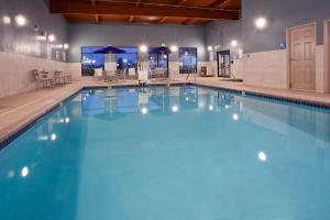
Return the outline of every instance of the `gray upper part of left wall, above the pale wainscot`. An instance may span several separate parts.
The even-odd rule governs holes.
[[[23,14],[28,24],[19,28],[16,14]],[[2,16],[9,15],[11,24],[4,25]],[[54,44],[67,42],[67,22],[62,15],[51,14],[45,0],[0,0],[0,51],[29,56],[47,57],[47,43],[36,42],[34,26],[56,35]],[[52,54],[57,50],[53,50]],[[54,58],[54,57],[53,57]]]

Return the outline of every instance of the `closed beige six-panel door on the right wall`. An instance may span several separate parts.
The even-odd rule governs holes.
[[[316,87],[316,25],[289,30],[290,88],[315,90]]]

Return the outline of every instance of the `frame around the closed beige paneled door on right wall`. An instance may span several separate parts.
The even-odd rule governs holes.
[[[286,87],[287,89],[293,89],[292,88],[292,77],[290,77],[290,31],[295,30],[295,29],[300,29],[300,28],[306,28],[306,26],[314,26],[315,31],[314,31],[314,38],[315,38],[315,57],[314,57],[314,63],[315,63],[315,85],[314,85],[314,90],[311,91],[316,91],[316,46],[317,46],[317,22],[310,22],[310,23],[306,23],[306,24],[301,24],[301,25],[297,25],[297,26],[292,26],[292,28],[287,28],[286,29]],[[296,89],[293,89],[296,90]]]

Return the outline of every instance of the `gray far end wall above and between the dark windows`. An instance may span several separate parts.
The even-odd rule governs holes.
[[[205,26],[70,23],[68,30],[69,62],[73,63],[80,62],[81,46],[138,46],[142,43],[197,47],[198,61],[207,58]]]

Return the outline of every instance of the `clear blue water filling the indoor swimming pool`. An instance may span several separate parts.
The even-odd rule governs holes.
[[[84,90],[0,151],[2,220],[329,220],[330,111]]]

